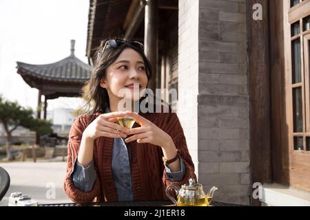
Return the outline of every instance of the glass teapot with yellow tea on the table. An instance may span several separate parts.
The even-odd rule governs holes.
[[[178,201],[169,194],[169,188],[176,190]],[[166,195],[176,206],[209,206],[213,194],[217,189],[218,188],[213,186],[209,192],[207,192],[207,195],[205,195],[205,192],[203,192],[203,185],[195,184],[195,179],[190,178],[189,184],[183,185],[182,188],[176,185],[167,186]]]

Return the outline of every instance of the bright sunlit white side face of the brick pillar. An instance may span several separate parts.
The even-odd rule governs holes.
[[[179,0],[178,117],[198,175],[198,0]]]

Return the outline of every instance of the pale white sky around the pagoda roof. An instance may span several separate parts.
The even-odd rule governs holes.
[[[0,94],[23,107],[37,108],[38,90],[17,74],[17,61],[48,64],[70,55],[85,56],[89,0],[0,0]],[[43,97],[42,97],[43,100]],[[48,100],[48,111],[77,109],[80,98]]]

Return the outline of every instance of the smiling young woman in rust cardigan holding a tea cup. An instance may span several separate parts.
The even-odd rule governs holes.
[[[118,109],[121,89],[142,91],[152,76],[143,45],[110,39],[96,56],[84,90],[92,109],[76,118],[69,134],[65,193],[76,203],[167,199],[169,184],[196,179],[178,116]],[[136,121],[132,129],[117,123],[128,116]]]

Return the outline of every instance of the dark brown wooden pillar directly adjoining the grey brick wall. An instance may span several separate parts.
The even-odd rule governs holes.
[[[254,20],[253,5],[262,5],[262,20]],[[272,181],[271,96],[269,69],[269,0],[247,1],[250,95],[251,184]],[[252,189],[255,190],[256,188]],[[251,204],[260,206],[251,193]]]

